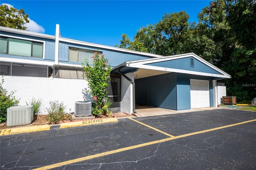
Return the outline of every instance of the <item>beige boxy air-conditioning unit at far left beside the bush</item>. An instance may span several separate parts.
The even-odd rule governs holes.
[[[34,106],[12,106],[7,109],[7,127],[28,125],[34,119]]]

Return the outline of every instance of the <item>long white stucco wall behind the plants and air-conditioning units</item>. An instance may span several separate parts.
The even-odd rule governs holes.
[[[49,107],[50,101],[63,101],[69,113],[70,108],[74,112],[75,101],[84,101],[82,90],[88,88],[88,83],[83,79],[4,76],[3,87],[8,94],[16,91],[14,96],[20,99],[19,105],[26,105],[26,101],[31,101],[32,97],[42,99],[44,108]],[[41,114],[46,114],[45,109]]]

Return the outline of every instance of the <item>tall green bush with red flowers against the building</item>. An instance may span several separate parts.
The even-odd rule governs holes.
[[[110,65],[108,59],[104,55],[98,54],[98,49],[94,52],[93,65],[90,65],[86,60],[82,63],[84,76],[87,78],[88,86],[90,87],[90,94],[92,95],[92,114],[99,117],[102,115],[102,107],[104,101],[108,98],[108,81],[110,80]]]

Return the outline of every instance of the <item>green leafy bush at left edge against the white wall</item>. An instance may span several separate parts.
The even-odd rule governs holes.
[[[14,92],[11,91],[8,94],[8,91],[3,87],[4,77],[0,83],[0,123],[6,122],[7,120],[7,109],[12,106],[17,106],[19,103],[18,99],[15,99]]]

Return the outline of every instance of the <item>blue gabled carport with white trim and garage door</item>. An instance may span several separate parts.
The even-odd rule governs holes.
[[[172,110],[217,107],[217,80],[230,75],[194,53],[137,61],[112,68],[121,75],[120,111],[148,105]]]

